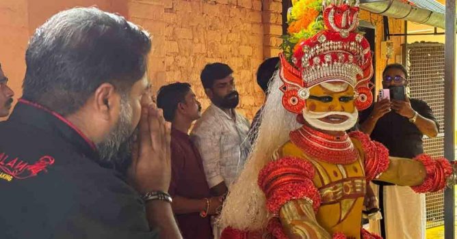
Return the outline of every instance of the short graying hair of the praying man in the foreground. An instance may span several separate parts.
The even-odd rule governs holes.
[[[68,115],[102,83],[120,93],[144,76],[148,33],[122,16],[97,8],[59,12],[29,42],[23,98]]]

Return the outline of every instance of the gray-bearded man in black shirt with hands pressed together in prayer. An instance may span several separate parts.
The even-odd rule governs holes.
[[[167,193],[170,125],[148,93],[150,49],[148,33],[96,8],[36,30],[23,98],[0,124],[3,238],[181,238]],[[124,178],[116,158],[130,155],[135,128]]]

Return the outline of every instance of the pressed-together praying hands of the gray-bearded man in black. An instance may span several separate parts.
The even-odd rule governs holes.
[[[129,178],[139,193],[168,191],[171,179],[170,123],[151,102],[142,105],[138,140],[133,147]]]

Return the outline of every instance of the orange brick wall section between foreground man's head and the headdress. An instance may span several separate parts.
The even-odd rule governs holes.
[[[154,89],[188,82],[209,106],[200,72],[216,61],[233,68],[241,96],[239,111],[252,118],[263,102],[255,81],[263,59],[278,54],[282,34],[280,1],[129,0],[129,20],[153,36],[148,76]]]

